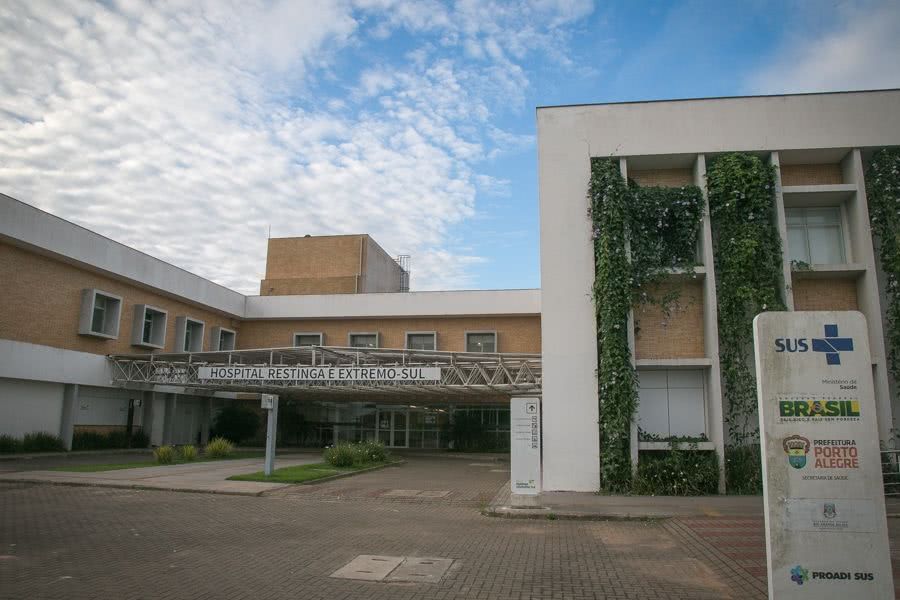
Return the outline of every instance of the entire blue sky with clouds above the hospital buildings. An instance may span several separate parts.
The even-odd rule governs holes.
[[[0,192],[247,293],[270,230],[537,287],[535,106],[900,87],[897,57],[892,0],[4,0]]]

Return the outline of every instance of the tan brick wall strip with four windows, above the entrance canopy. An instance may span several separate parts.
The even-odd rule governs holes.
[[[383,348],[403,348],[408,331],[437,332],[437,350],[465,351],[466,331],[496,331],[500,352],[540,352],[539,316],[244,321],[239,348],[290,346],[295,332],[323,333],[327,346],[346,346],[350,332],[378,332]]]

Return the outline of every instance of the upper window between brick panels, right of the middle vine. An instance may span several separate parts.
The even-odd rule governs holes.
[[[839,207],[788,208],[785,217],[792,261],[811,265],[846,262]]]

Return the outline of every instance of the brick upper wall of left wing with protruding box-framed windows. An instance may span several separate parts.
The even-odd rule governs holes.
[[[209,348],[214,326],[238,331],[227,315],[179,301],[138,285],[0,243],[0,338],[95,354],[133,354],[149,350],[131,345],[135,304],[168,311],[165,351],[175,351],[175,318],[186,315],[206,324],[203,348]],[[103,340],[78,335],[81,291],[97,288],[122,296],[119,337]]]

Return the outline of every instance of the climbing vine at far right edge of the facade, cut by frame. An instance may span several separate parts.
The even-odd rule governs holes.
[[[886,277],[888,368],[900,379],[900,149],[885,148],[866,171],[869,221]]]

